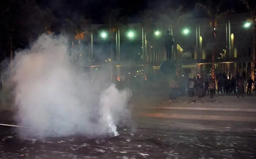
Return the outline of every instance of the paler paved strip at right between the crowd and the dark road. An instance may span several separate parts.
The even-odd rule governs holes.
[[[151,99],[150,99],[151,100]],[[180,96],[177,100],[158,102],[154,106],[134,108],[137,116],[174,119],[256,121],[256,96],[215,95],[214,98]]]

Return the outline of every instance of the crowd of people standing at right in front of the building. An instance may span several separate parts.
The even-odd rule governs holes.
[[[243,75],[236,74],[235,77],[229,79],[225,74],[215,79],[206,79],[203,78],[189,78],[186,79],[178,79],[171,78],[169,80],[169,86],[171,89],[171,99],[176,99],[178,92],[181,94],[188,94],[189,97],[193,97],[195,94],[198,98],[202,98],[205,96],[206,92],[210,93],[210,98],[213,98],[214,94],[231,94],[235,93],[239,98],[242,96],[244,98],[244,94],[252,94],[252,89],[254,88],[256,92],[256,78],[252,80],[245,79]],[[245,92],[246,91],[246,92]]]

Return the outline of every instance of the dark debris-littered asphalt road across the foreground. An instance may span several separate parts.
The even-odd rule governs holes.
[[[0,158],[256,158],[255,123],[137,117],[117,137],[19,139],[0,127]]]

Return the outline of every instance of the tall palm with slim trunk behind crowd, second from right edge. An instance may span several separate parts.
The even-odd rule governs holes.
[[[207,0],[205,4],[203,3],[197,3],[196,6],[199,6],[203,10],[207,12],[207,16],[211,19],[210,25],[212,27],[212,79],[215,79],[215,66],[214,66],[214,57],[215,57],[215,39],[216,39],[216,33],[215,33],[215,27],[217,26],[217,19],[220,19],[221,17],[224,17],[228,15],[229,13],[233,12],[230,9],[227,9],[225,11],[221,10],[222,3],[221,2],[214,2],[212,0]]]

